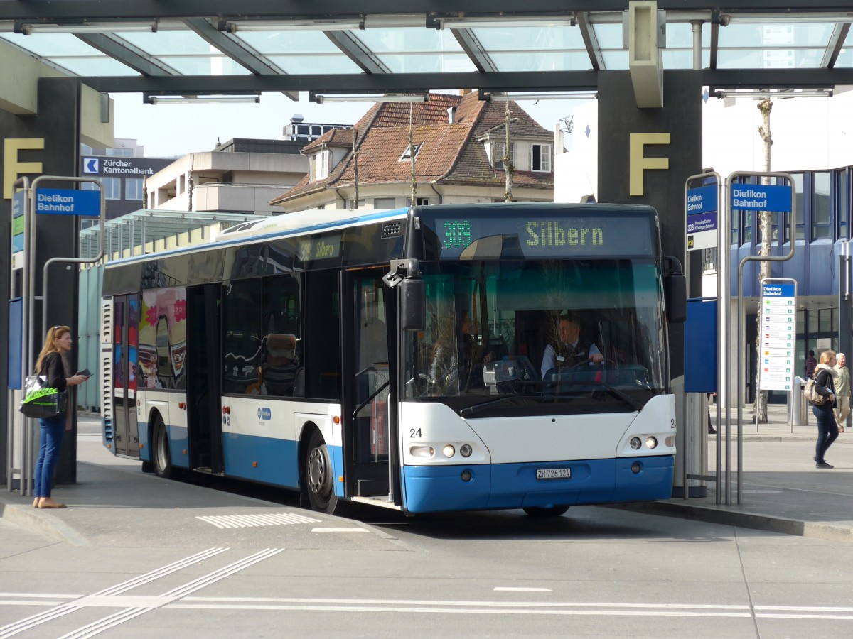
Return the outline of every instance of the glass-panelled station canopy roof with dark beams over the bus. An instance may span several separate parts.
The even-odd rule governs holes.
[[[630,68],[628,0],[0,0],[0,38],[102,93],[319,101],[595,90]],[[641,3],[642,4],[642,3]],[[659,68],[711,90],[853,84],[849,0],[658,0]]]

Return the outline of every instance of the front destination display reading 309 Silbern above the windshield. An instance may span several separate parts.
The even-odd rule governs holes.
[[[653,256],[648,217],[437,218],[441,259]]]

